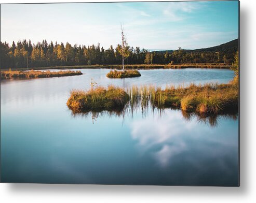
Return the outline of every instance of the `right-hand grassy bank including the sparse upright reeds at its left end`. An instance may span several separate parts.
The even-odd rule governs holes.
[[[204,85],[168,86],[165,90],[154,86],[133,86],[129,91],[130,104],[151,103],[158,108],[177,108],[201,115],[238,112],[238,82],[230,84],[208,83]]]

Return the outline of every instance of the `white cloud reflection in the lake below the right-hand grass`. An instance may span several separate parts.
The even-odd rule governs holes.
[[[230,142],[222,136],[225,132],[221,133],[218,127],[209,131],[209,126],[197,119],[192,117],[188,121],[180,111],[167,110],[161,117],[133,120],[130,125],[131,137],[138,141],[138,151],[142,155],[151,152],[161,167],[170,166],[172,159],[176,159],[180,154],[187,154],[182,157],[188,162],[193,159],[197,162],[198,152],[199,155],[203,153],[203,156],[219,158],[229,153],[228,149],[237,148],[236,139]],[[223,119],[224,117],[218,118],[220,122]],[[191,156],[188,156],[190,152]]]

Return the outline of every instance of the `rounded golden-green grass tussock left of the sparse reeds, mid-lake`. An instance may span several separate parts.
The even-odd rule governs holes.
[[[120,109],[129,100],[122,88],[109,86],[107,89],[98,87],[89,91],[72,90],[66,105],[75,112],[88,109]]]

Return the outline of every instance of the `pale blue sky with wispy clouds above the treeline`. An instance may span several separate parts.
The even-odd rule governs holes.
[[[1,41],[120,43],[148,50],[206,48],[238,38],[238,1],[1,5]]]

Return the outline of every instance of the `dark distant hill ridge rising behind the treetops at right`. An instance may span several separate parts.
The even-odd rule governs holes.
[[[214,46],[214,47],[209,47],[209,48],[201,48],[201,49],[194,49],[194,50],[190,50],[190,49],[184,49],[183,51],[185,52],[208,52],[208,51],[225,51],[225,50],[238,50],[238,45],[239,45],[239,40],[238,39],[234,39],[232,41],[228,41],[224,44],[218,45],[218,46]],[[152,52],[156,52],[156,53],[166,53],[168,51],[168,53],[172,53],[174,50],[161,50],[161,51],[152,51]]]

